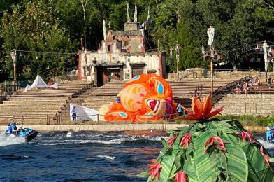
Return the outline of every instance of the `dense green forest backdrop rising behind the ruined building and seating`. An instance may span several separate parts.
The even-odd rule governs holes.
[[[85,21],[81,2],[87,3]],[[254,51],[250,45],[273,41],[267,31],[274,27],[271,0],[6,0],[0,2],[0,77],[13,75],[14,49],[20,55],[21,78],[64,74],[66,59],[75,59],[73,52],[80,50],[80,38],[86,35],[88,50],[99,47],[103,20],[111,29],[124,29],[127,3],[131,20],[138,7],[138,22],[145,22],[150,8],[148,31],[159,49],[169,52],[181,45],[179,69],[208,65],[201,48],[208,49],[210,25],[215,28],[215,50],[234,69]],[[176,69],[174,59],[175,53],[168,55],[168,71]]]

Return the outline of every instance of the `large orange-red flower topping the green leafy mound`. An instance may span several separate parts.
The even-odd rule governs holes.
[[[185,111],[187,111],[188,114],[187,114],[187,118],[181,118],[181,119],[182,120],[206,120],[220,113],[224,109],[224,107],[221,107],[211,112],[212,102],[210,98],[211,98],[211,94],[208,94],[207,97],[203,98],[203,102],[201,102],[198,97],[196,96],[192,97],[192,111],[189,111],[189,109],[185,109],[184,107],[182,107],[182,109],[185,109]]]

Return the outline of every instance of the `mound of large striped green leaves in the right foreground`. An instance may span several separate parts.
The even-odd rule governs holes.
[[[187,181],[273,181],[273,169],[261,155],[261,144],[243,141],[237,132],[246,132],[237,120],[216,119],[173,130],[170,138],[176,137],[175,141],[171,146],[163,142],[155,161],[161,165],[159,181],[173,181],[178,172],[185,172]],[[181,146],[186,134],[192,138],[188,147]],[[226,150],[217,147],[220,141],[206,146],[211,137],[219,137]],[[147,181],[151,181],[150,176]]]

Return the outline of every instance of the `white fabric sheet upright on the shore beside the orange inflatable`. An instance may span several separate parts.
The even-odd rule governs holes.
[[[77,104],[69,104],[70,107],[70,115],[71,116],[71,121],[72,121],[72,109],[73,106],[75,106],[75,110],[76,110],[76,121],[80,121],[80,120],[97,120],[97,115],[98,115],[98,111],[94,110],[94,109],[89,109],[87,107],[84,106],[80,106]]]

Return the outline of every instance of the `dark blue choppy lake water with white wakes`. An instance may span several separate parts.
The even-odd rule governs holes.
[[[49,132],[0,137],[0,181],[147,181],[136,174],[157,158],[164,132]],[[274,144],[257,139],[271,155]]]

